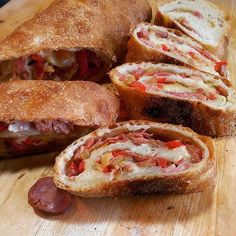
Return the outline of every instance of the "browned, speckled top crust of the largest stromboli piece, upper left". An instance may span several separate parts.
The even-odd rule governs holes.
[[[146,0],[54,0],[1,42],[0,60],[68,48],[89,48],[115,59],[130,29],[150,16]]]

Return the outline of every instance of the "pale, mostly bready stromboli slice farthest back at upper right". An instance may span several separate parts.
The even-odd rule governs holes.
[[[160,6],[155,23],[178,28],[219,58],[229,43],[229,22],[224,12],[203,0],[177,0]]]

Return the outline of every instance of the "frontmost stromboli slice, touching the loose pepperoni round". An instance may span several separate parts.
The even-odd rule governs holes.
[[[129,121],[75,141],[54,172],[57,187],[82,197],[197,192],[214,184],[213,146],[181,126]]]

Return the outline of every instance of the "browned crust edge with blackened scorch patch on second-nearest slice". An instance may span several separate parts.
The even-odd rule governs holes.
[[[110,76],[130,119],[182,124],[211,137],[236,135],[236,110],[216,109],[200,101],[139,92],[118,83],[112,72]]]

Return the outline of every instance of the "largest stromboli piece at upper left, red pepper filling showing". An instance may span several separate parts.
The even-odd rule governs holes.
[[[130,30],[150,18],[147,0],[53,0],[1,42],[0,82],[99,81],[125,52]]]

